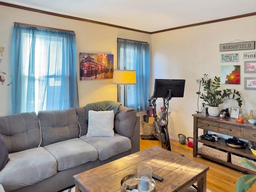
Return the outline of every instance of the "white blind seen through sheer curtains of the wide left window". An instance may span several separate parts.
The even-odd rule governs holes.
[[[58,36],[43,36],[36,38],[34,47],[34,57],[31,58],[30,50],[32,38],[29,34],[23,34],[23,76],[22,76],[22,108],[27,105],[35,106],[35,111],[47,110],[50,108],[58,109],[60,98],[53,97],[54,93],[60,92],[61,74],[62,74],[62,40]],[[34,59],[34,68],[29,68],[29,58]],[[35,100],[29,100],[28,94],[28,74],[34,73],[34,94]],[[46,78],[48,77],[48,78]],[[42,86],[46,85],[46,86]],[[42,89],[44,87],[44,89]],[[55,94],[56,95],[56,94]],[[60,95],[60,94],[58,94]],[[40,107],[42,106],[42,107]],[[26,111],[26,110],[24,110]]]

